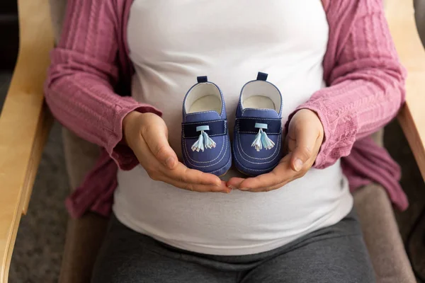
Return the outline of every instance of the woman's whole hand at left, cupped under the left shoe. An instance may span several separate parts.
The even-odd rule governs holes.
[[[123,120],[123,137],[153,180],[196,192],[230,192],[216,175],[189,169],[179,162],[169,145],[165,122],[158,115],[130,112]]]

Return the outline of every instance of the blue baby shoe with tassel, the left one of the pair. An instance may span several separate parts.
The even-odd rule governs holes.
[[[183,162],[188,168],[224,175],[232,166],[230,148],[222,92],[206,76],[198,76],[183,100]]]

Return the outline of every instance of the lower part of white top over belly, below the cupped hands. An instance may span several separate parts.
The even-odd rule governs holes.
[[[245,254],[282,246],[351,209],[339,163],[272,192],[190,192],[151,180],[141,166],[118,173],[114,212],[135,231],[199,253]]]

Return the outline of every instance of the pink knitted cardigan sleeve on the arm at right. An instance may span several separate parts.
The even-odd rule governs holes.
[[[324,142],[315,168],[326,168],[348,156],[357,139],[392,120],[404,103],[406,73],[399,63],[382,1],[346,1],[356,3],[348,10],[341,2],[330,1],[327,14],[329,35],[340,30],[339,37],[346,37],[336,41],[341,46],[335,50],[328,47],[327,52],[338,50],[329,71],[328,87],[314,93],[286,123],[288,129],[290,118],[302,108],[317,113],[324,127]],[[340,19],[351,12],[355,16],[345,35],[341,30],[346,21]]]

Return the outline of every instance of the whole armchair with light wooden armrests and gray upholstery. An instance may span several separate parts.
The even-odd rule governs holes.
[[[0,116],[0,283],[8,280],[16,231],[28,207],[52,121],[43,103],[42,83],[49,64],[48,52],[60,37],[65,3],[18,0],[21,47]],[[424,6],[425,14],[425,1],[418,0],[416,5]],[[425,52],[416,31],[413,0],[386,0],[385,8],[397,50],[409,71],[407,104],[399,113],[399,122],[425,176],[425,111],[421,100],[425,91]],[[424,14],[417,14],[417,18],[422,17],[419,28],[423,30]],[[73,189],[93,166],[98,149],[67,129],[63,130],[63,141]],[[375,134],[375,141],[382,146],[382,131]],[[354,198],[378,282],[415,282],[385,190],[380,185],[368,185]],[[60,282],[89,282],[107,221],[95,214],[69,219]]]

